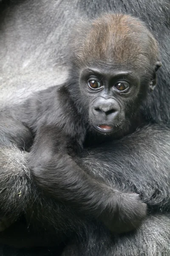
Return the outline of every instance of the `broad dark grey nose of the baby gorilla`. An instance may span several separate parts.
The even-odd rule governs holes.
[[[115,116],[119,113],[119,105],[114,99],[101,98],[95,102],[93,113],[95,115],[104,113],[106,116],[111,114]]]

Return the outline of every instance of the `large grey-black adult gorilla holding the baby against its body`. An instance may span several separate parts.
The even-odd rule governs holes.
[[[67,46],[71,27],[82,17],[95,17],[102,11],[130,13],[140,17],[159,41],[163,69],[158,86],[144,107],[146,127],[107,144],[88,149],[82,164],[95,175],[126,191],[137,192],[150,209],[150,215],[136,233],[111,236],[95,221],[72,213],[65,225],[73,225],[73,241],[63,255],[168,256],[170,255],[170,130],[169,99],[170,45],[169,0],[131,1],[2,1],[0,6],[1,108],[23,101],[33,90],[60,84],[67,76]],[[14,137],[18,134],[13,134]],[[18,136],[17,136],[18,137]],[[0,137],[4,143],[3,134]],[[15,140],[14,140],[15,141]],[[114,145],[114,146],[113,146]],[[46,198],[30,178],[23,153],[14,145],[0,149],[0,209],[3,224],[0,241],[15,247],[50,246],[56,238],[58,204]],[[79,160],[80,161],[80,160]],[[27,186],[22,195],[22,186]],[[34,199],[34,201],[33,201]],[[65,207],[65,206],[63,206]],[[7,222],[4,222],[6,215]],[[30,219],[31,215],[31,219]],[[19,218],[20,217],[20,218]],[[65,216],[61,216],[61,220]],[[81,216],[82,217],[82,216]],[[26,222],[27,221],[27,222]],[[30,223],[29,230],[28,221]],[[58,222],[58,220],[57,220]],[[34,229],[33,225],[34,224]],[[83,231],[81,231],[81,228]],[[79,230],[77,230],[79,229]],[[17,232],[16,232],[17,230]],[[28,231],[29,232],[28,232]],[[37,230],[37,233],[35,233]],[[46,231],[47,230],[47,231]],[[48,235],[46,234],[48,232]],[[10,234],[10,236],[9,236]],[[39,238],[37,236],[39,235]],[[65,240],[61,237],[61,241]],[[68,232],[67,236],[71,236]],[[6,255],[51,255],[50,250],[14,249],[1,246]],[[58,253],[58,248],[53,248]],[[54,254],[55,255],[55,254]]]

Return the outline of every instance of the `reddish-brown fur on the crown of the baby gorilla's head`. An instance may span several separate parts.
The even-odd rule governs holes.
[[[158,45],[138,18],[105,14],[77,29],[72,60],[77,67],[89,64],[126,65],[152,72],[159,59]]]

